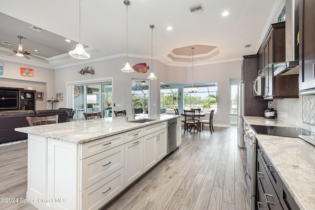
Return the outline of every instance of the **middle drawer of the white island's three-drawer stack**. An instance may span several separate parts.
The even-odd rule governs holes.
[[[81,186],[84,190],[95,182],[124,167],[124,145],[81,160]]]

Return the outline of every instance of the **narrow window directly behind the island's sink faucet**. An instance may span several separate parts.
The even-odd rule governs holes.
[[[135,106],[134,113],[149,113],[149,81],[148,80],[138,80],[132,79],[131,80],[132,87],[131,87],[131,98],[132,104],[137,100],[141,101],[144,104],[145,110],[140,103],[137,103]]]

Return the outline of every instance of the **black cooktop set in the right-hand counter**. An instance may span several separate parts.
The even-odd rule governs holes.
[[[299,127],[251,125],[257,134],[299,138],[299,135],[314,136],[315,133]]]

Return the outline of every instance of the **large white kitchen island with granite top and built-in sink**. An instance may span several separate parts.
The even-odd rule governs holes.
[[[104,206],[166,155],[167,121],[181,123],[176,115],[138,118],[152,121],[113,117],[16,128],[28,133],[26,202],[38,209]]]

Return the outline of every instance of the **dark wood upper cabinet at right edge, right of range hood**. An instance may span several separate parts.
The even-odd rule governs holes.
[[[299,89],[315,89],[315,1],[300,0]]]

